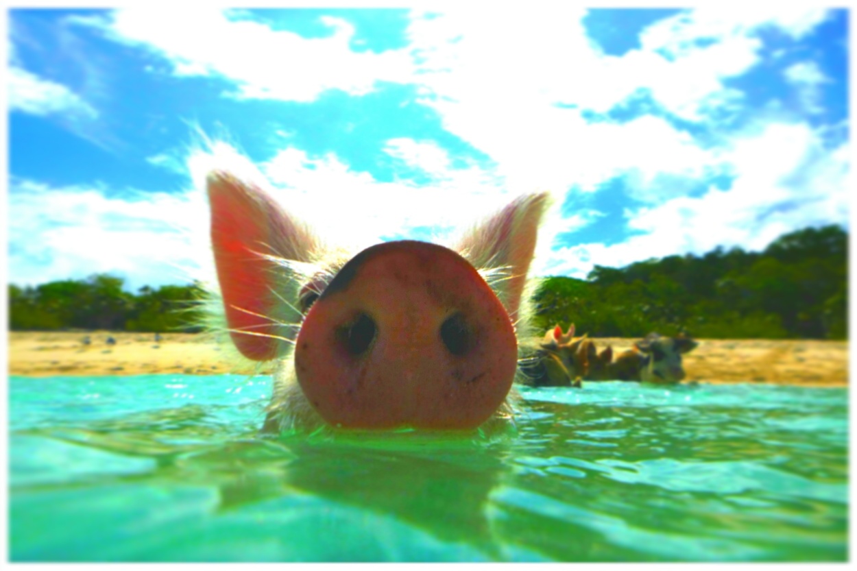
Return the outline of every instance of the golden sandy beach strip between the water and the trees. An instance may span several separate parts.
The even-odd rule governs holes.
[[[91,343],[82,340],[89,337]],[[117,343],[109,346],[107,338]],[[253,367],[230,358],[202,334],[95,332],[10,332],[9,373],[20,376],[96,376],[182,373],[249,374]],[[614,352],[631,346],[629,339],[595,339]],[[686,354],[685,382],[767,382],[806,387],[848,386],[848,342],[818,340],[698,340]],[[261,372],[267,372],[263,369]]]

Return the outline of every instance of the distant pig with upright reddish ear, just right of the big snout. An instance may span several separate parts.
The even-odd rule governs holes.
[[[533,387],[580,388],[584,370],[579,360],[579,347],[584,337],[574,338],[574,324],[562,333],[556,325],[548,329],[533,356],[525,363],[524,384]]]

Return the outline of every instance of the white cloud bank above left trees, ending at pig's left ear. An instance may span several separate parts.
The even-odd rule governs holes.
[[[100,272],[127,277],[132,289],[183,283],[211,255],[201,193],[123,199],[98,187],[13,179],[8,203],[9,281],[15,284]]]

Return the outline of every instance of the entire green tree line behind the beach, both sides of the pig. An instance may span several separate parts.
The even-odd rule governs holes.
[[[718,247],[626,267],[596,266],[587,279],[553,277],[536,290],[536,331],[575,323],[590,337],[685,332],[706,339],[848,338],[848,233],[838,225],[779,237],[762,252]],[[123,289],[96,274],[9,285],[12,330],[198,331],[201,288]]]

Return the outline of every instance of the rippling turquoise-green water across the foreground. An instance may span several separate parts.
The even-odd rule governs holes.
[[[846,389],[522,390],[515,430],[257,434],[267,377],[11,377],[16,562],[846,561]]]

